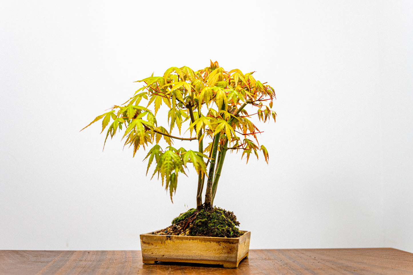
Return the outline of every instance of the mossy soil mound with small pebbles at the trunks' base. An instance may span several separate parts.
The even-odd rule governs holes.
[[[238,225],[240,222],[234,213],[225,209],[214,207],[210,211],[197,211],[192,208],[173,219],[172,225],[154,234],[237,238],[244,234]]]

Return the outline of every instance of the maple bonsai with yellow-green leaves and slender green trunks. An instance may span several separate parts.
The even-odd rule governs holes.
[[[246,155],[247,163],[251,153],[258,159],[261,151],[268,163],[267,149],[259,146],[257,139],[261,132],[249,118],[266,122],[272,117],[275,122],[276,113],[271,110],[275,94],[271,86],[255,80],[253,73],[243,74],[239,69],[227,72],[212,61],[209,67],[198,71],[186,66],[171,67],[163,76],[152,74],[135,81],[145,85],[88,126],[102,120],[102,132],[108,127],[104,143],[108,136],[112,139],[116,131],[124,130],[125,145],[133,148],[133,156],[148,143],[154,144],[145,158],[147,172],[155,161],[152,177],[161,177],[171,201],[178,176],[185,174],[188,163],[192,163],[198,174],[197,210],[211,210],[228,150],[242,151],[241,158]],[[167,128],[157,124],[156,115],[162,104],[169,108]],[[172,135],[175,128],[179,136]],[[185,134],[186,137],[181,136]],[[168,145],[164,149],[159,145],[162,138]],[[198,151],[176,149],[172,146],[174,140],[193,141],[198,144]]]

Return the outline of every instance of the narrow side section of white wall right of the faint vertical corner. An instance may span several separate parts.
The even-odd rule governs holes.
[[[385,246],[413,252],[413,2],[379,16]]]

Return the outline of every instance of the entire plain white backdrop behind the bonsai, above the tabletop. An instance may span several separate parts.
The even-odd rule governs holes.
[[[0,249],[138,250],[194,207],[195,171],[172,204],[145,152],[79,130],[211,59],[277,96],[269,165],[229,155],[215,199],[251,249],[413,252],[412,18],[408,0],[3,1]]]

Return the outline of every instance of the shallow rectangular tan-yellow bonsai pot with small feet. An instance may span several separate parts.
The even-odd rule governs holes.
[[[184,262],[223,265],[236,268],[248,257],[251,232],[238,238],[195,237],[181,235],[140,234],[143,263]]]

